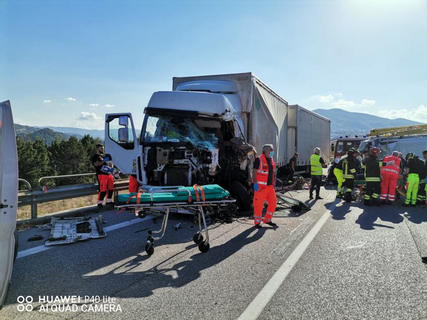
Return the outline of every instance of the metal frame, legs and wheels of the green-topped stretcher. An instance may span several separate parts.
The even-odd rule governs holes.
[[[150,202],[144,203],[126,203],[126,204],[116,204],[114,207],[117,209],[134,209],[135,213],[138,214],[139,217],[144,217],[145,214],[140,215],[139,211],[154,209],[157,212],[163,215],[163,220],[161,224],[160,230],[152,231],[148,230],[147,242],[145,245],[145,252],[148,256],[151,256],[154,253],[154,241],[162,239],[166,234],[167,222],[169,219],[169,210],[171,207],[187,207],[195,209],[195,214],[198,216],[199,220],[199,232],[193,236],[193,241],[199,247],[199,251],[208,252],[209,245],[209,232],[208,226],[206,224],[206,217],[203,207],[205,205],[217,205],[217,206],[225,206],[230,203],[236,202],[235,199],[227,198],[227,199],[209,199],[205,201],[163,201],[163,202],[154,202],[154,194],[160,192],[188,192],[189,199],[191,199],[191,192],[183,188],[183,186],[170,186],[170,187],[141,187],[141,189],[147,190],[150,193]],[[203,222],[203,226],[202,226]],[[202,228],[203,227],[203,228]],[[202,233],[205,234],[203,237]],[[154,237],[153,234],[160,234],[158,237]]]

